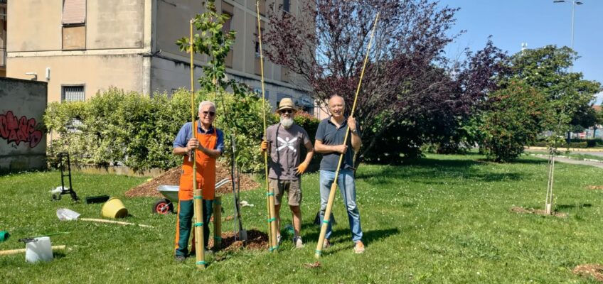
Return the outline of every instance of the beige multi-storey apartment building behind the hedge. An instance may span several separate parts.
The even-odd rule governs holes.
[[[276,3],[274,3],[276,1]],[[266,9],[297,13],[304,0],[260,0]],[[6,0],[4,1],[6,2]],[[48,102],[84,100],[110,86],[152,94],[190,88],[190,64],[176,40],[203,12],[201,0],[11,0],[8,2],[8,77],[48,82]],[[0,2],[1,3],[1,2]],[[228,77],[260,89],[255,0],[216,0],[237,32],[226,60]],[[279,11],[281,12],[281,11]],[[264,27],[265,28],[265,27]],[[18,31],[18,32],[15,32]],[[197,56],[195,76],[206,58]],[[291,97],[312,112],[307,87],[287,68],[265,60],[265,89],[273,107]],[[198,87],[198,86],[197,86]]]

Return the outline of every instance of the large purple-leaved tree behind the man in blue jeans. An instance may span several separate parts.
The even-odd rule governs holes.
[[[269,10],[268,58],[297,73],[297,84],[309,84],[314,98],[339,94],[348,105],[371,24],[380,12],[356,110],[367,158],[397,160],[420,154],[426,141],[458,141],[453,129],[496,87],[492,78],[503,54],[491,43],[466,62],[451,64],[444,57],[444,47],[457,37],[449,29],[458,9],[427,0],[316,0],[306,5],[298,16]],[[388,149],[402,153],[375,148],[386,142],[395,145]]]

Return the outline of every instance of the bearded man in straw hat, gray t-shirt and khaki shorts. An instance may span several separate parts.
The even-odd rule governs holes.
[[[280,122],[269,126],[266,129],[265,140],[262,141],[260,148],[262,151],[268,151],[270,171],[268,173],[268,184],[274,190],[274,211],[277,218],[277,228],[280,231],[279,209],[284,192],[287,193],[289,208],[293,212],[293,244],[296,248],[304,247],[304,241],[299,236],[301,230],[301,174],[306,171],[314,147],[308,136],[308,133],[301,126],[294,123],[296,109],[292,99],[284,98],[279,104],[277,113],[280,116]],[[301,146],[306,147],[306,158],[300,162]],[[280,243],[281,235],[277,235]]]

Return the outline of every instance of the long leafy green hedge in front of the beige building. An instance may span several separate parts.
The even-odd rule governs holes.
[[[241,170],[257,171],[263,166],[257,151],[262,135],[262,101],[250,92],[237,96],[220,93],[216,102],[215,124],[225,133],[224,158],[233,157],[230,138],[234,136]],[[199,93],[195,106],[214,97]],[[45,124],[53,131],[50,156],[68,152],[75,163],[122,163],[134,170],[180,165],[182,158],[171,153],[172,143],[181,126],[190,120],[190,93],[185,89],[171,96],[148,97],[110,88],[86,102],[51,103],[44,115]]]

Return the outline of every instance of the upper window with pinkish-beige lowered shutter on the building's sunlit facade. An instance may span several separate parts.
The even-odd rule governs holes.
[[[63,0],[63,50],[86,48],[86,0]]]

